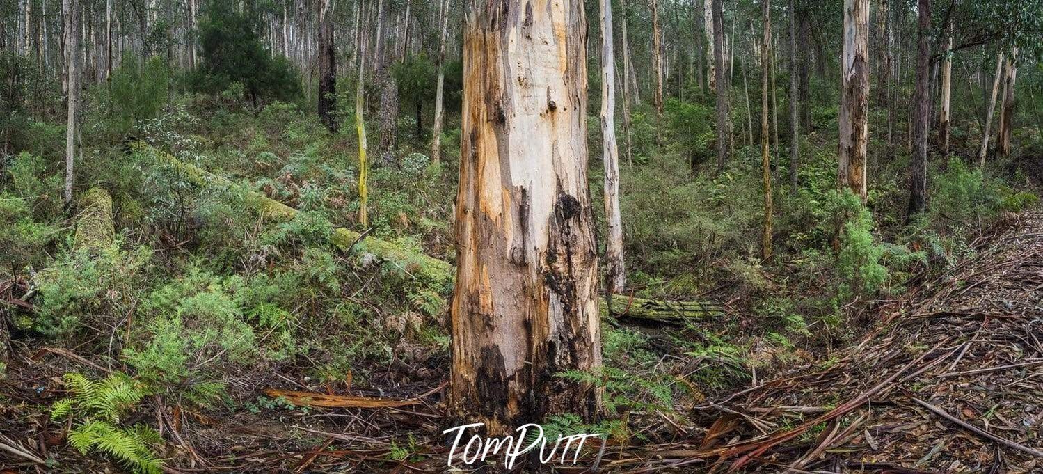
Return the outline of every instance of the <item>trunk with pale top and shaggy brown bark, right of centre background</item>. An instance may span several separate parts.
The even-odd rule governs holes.
[[[844,1],[838,185],[866,202],[869,140],[869,0]]]

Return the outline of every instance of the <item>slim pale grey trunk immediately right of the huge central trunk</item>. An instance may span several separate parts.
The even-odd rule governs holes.
[[[623,218],[620,215],[620,149],[615,144],[615,52],[612,50],[611,0],[601,7],[601,136],[605,166],[605,285],[622,293],[627,285],[623,266]]]

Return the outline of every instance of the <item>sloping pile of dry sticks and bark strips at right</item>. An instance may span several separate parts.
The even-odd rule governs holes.
[[[883,311],[858,346],[701,407],[725,414],[697,448],[648,446],[606,454],[603,466],[1040,472],[1043,213],[976,247],[924,284],[932,294]],[[745,434],[753,430],[763,434]]]

